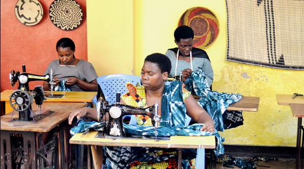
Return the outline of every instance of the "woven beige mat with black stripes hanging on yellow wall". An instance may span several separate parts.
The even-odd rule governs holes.
[[[226,8],[226,60],[304,70],[304,1],[226,0]]]

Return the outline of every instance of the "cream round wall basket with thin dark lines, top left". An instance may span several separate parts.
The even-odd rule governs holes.
[[[19,0],[15,6],[15,14],[21,24],[34,26],[43,17],[43,8],[38,0]]]

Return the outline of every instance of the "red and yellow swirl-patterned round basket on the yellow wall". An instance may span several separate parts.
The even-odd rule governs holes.
[[[202,7],[186,10],[179,19],[178,26],[181,25],[193,29],[193,46],[200,49],[214,43],[220,31],[219,20],[216,15],[211,10]]]

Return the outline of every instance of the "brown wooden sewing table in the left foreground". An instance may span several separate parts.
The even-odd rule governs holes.
[[[67,124],[67,118],[69,114],[75,109],[86,107],[87,103],[75,103],[75,102],[43,102],[41,105],[42,110],[54,111],[54,113],[44,117],[40,121],[34,123],[31,121],[17,121],[13,120],[18,118],[19,113],[17,111],[8,113],[1,116],[1,168],[12,168],[12,147],[10,135],[20,133],[23,135],[24,140],[24,165],[25,168],[38,168],[37,164],[37,132],[49,132],[57,125],[59,125],[59,138],[60,138],[60,155],[61,155],[61,168],[69,168],[69,158],[65,157],[65,146],[68,149],[69,136],[69,125]],[[32,104],[33,111],[37,111],[40,108],[37,107],[35,102]],[[12,119],[12,122],[11,122]],[[64,129],[66,128],[66,129]],[[64,130],[66,133],[64,133]],[[65,136],[66,138],[65,138]],[[65,142],[64,142],[65,140]],[[4,142],[6,141],[6,147]],[[28,144],[30,142],[30,146]],[[39,141],[38,141],[39,142]],[[30,150],[30,151],[29,151]],[[71,150],[67,150],[69,152]],[[57,151],[58,152],[58,151]],[[31,153],[31,154],[29,154]],[[6,156],[6,157],[5,157]],[[5,160],[6,159],[6,160]],[[67,163],[66,163],[67,161]],[[30,163],[31,162],[31,163]]]

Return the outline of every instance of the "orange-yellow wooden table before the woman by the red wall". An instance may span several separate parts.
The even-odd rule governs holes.
[[[4,113],[7,114],[13,111],[10,104],[10,96],[14,90],[5,90],[1,92],[1,101],[3,102]],[[51,91],[44,91],[44,94],[51,94]],[[63,94],[59,98],[47,97],[44,102],[92,102],[97,92],[53,92],[53,94]]]

